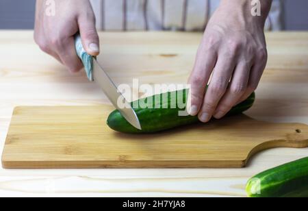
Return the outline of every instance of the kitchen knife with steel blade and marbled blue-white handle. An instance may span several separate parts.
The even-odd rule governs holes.
[[[86,53],[86,50],[82,46],[81,37],[79,34],[75,36],[75,49],[78,57],[84,64],[84,69],[87,73],[88,79],[91,82],[96,82],[102,89],[107,98],[112,102],[112,105],[122,114],[122,116],[137,129],[142,129],[140,121],[136,112],[131,108],[131,103],[129,103],[125,97],[118,91],[118,88],[112,82],[112,79],[103,70],[97,58]],[[118,106],[118,101],[123,102],[123,106]]]

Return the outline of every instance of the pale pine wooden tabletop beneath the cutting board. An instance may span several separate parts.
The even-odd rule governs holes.
[[[201,34],[102,33],[99,60],[117,84],[183,83]],[[308,124],[308,33],[269,33],[269,61],[257,90],[255,119]],[[0,31],[0,143],[18,105],[109,103],[84,73],[71,75],[38,49],[33,32]],[[308,156],[308,149],[270,149],[246,169],[0,169],[0,196],[245,196],[249,177]]]

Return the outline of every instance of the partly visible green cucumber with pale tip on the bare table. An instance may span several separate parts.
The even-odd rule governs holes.
[[[308,197],[308,158],[255,175],[246,193],[248,197]]]

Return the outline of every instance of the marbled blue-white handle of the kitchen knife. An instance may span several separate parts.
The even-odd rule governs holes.
[[[88,79],[93,81],[93,56],[89,55],[84,47],[82,46],[80,34],[75,35],[75,49],[78,57],[81,59],[82,64],[84,64],[84,70],[88,76]]]

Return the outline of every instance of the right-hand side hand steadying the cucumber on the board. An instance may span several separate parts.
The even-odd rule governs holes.
[[[251,15],[250,1],[222,1],[190,75],[192,116],[220,119],[257,88],[267,62],[265,20]]]

